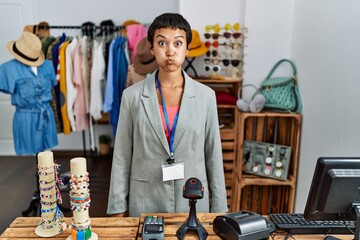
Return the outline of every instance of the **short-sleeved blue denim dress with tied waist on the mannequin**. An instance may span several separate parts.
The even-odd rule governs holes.
[[[58,144],[51,89],[57,84],[54,66],[45,60],[37,75],[12,59],[0,66],[0,91],[11,94],[16,107],[13,138],[18,155],[35,154]]]

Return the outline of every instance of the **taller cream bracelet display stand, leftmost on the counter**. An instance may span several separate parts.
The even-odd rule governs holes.
[[[64,217],[57,203],[60,201],[60,191],[57,188],[57,166],[51,151],[38,154],[38,175],[41,205],[41,222],[35,228],[39,237],[53,237],[66,229]]]

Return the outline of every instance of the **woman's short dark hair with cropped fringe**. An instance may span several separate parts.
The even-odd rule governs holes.
[[[155,31],[160,28],[172,28],[181,29],[186,33],[186,48],[189,49],[189,45],[192,40],[191,27],[188,21],[178,13],[163,13],[157,16],[151,23],[148,29],[147,38],[151,44],[151,48],[154,47],[154,34]]]

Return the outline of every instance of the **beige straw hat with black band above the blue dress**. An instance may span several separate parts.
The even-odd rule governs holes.
[[[7,44],[9,52],[20,62],[31,67],[40,66],[44,62],[44,53],[41,51],[41,41],[33,33],[22,32],[17,41]]]

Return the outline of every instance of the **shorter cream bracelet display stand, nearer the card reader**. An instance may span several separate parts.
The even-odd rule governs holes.
[[[97,234],[91,230],[89,217],[91,199],[86,159],[82,157],[71,159],[70,172],[70,205],[73,211],[73,219],[71,235],[67,240],[97,240]]]

